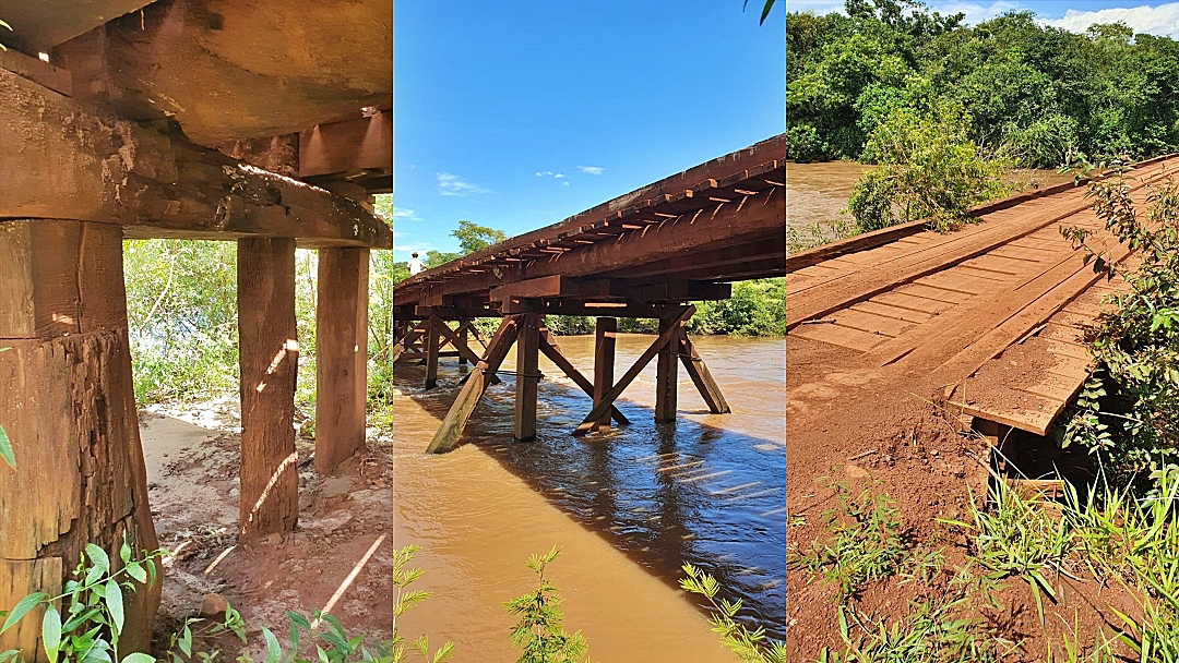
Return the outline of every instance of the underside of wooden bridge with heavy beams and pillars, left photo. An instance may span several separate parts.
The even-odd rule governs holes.
[[[295,247],[320,251],[315,465],[364,445],[368,254],[390,248],[393,1],[6,2],[0,39],[0,608],[86,544],[158,548],[123,240],[237,243],[241,541],[292,531]],[[302,35],[292,40],[291,34]],[[160,585],[126,598],[146,651]],[[40,616],[0,636],[38,654]]]

